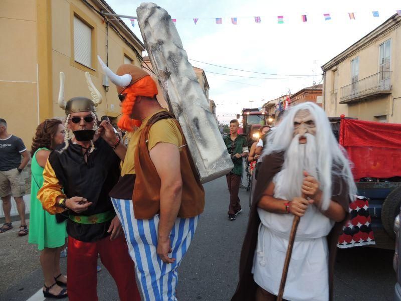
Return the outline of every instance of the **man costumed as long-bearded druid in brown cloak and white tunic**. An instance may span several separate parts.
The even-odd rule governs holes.
[[[275,300],[294,216],[301,219],[283,298],[331,300],[336,242],[356,187],[323,109],[290,108],[263,156],[232,300]]]

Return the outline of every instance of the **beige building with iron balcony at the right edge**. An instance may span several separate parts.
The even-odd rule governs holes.
[[[322,70],[328,116],[401,122],[401,17],[393,15]]]

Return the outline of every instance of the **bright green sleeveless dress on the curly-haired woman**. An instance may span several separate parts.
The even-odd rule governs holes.
[[[45,147],[39,148],[32,157],[31,213],[28,239],[29,243],[37,244],[39,250],[61,247],[65,243],[65,238],[68,236],[66,230],[67,221],[57,223],[56,216],[45,211],[42,207],[42,203],[36,197],[39,189],[43,185],[42,174],[44,168],[36,161],[36,154],[41,149],[49,150]]]

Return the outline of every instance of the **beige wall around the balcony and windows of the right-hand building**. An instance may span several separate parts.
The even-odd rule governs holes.
[[[392,93],[355,103],[340,104],[340,88],[351,83],[351,60],[359,57],[361,80],[379,72],[379,45],[391,39]],[[336,71],[335,71],[336,70]],[[334,72],[335,71],[335,72]],[[336,76],[336,87],[334,84]],[[328,116],[345,114],[361,120],[375,121],[375,116],[386,115],[387,122],[401,122],[401,27],[381,35],[370,45],[359,49],[346,60],[327,70],[324,78],[324,108]],[[394,103],[393,103],[394,101]],[[394,104],[394,105],[393,105]]]

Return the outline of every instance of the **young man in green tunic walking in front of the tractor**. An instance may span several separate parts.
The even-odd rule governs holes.
[[[240,205],[240,198],[238,197],[238,191],[241,184],[242,176],[242,158],[246,157],[249,153],[247,139],[238,134],[238,128],[240,123],[237,119],[230,121],[230,135],[224,137],[227,150],[231,156],[231,160],[234,163],[234,168],[226,176],[227,185],[230,191],[230,205],[229,205],[229,220],[234,221],[235,216],[242,211]]]

